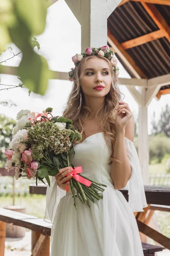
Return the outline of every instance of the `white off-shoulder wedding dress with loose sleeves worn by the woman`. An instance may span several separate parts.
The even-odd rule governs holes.
[[[71,163],[74,167],[82,166],[83,176],[107,185],[103,199],[96,200],[96,203],[90,201],[91,207],[77,199],[76,210],[71,189],[67,194],[51,177],[44,218],[50,218],[53,223],[51,256],[143,256],[133,212],[143,212],[147,202],[136,148],[127,138],[125,146],[132,169],[125,187],[128,189],[128,203],[113,186],[111,165],[108,165],[111,149],[102,132],[74,144],[75,155]]]

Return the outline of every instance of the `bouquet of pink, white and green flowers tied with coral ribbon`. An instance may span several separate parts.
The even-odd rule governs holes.
[[[15,178],[20,177],[44,182],[44,178],[50,186],[49,176],[55,176],[62,169],[71,166],[73,177],[66,191],[71,192],[74,198],[74,206],[77,209],[76,197],[82,204],[88,204],[88,199],[102,198],[105,190],[101,183],[96,183],[81,175],[82,166],[74,166],[70,163],[73,153],[73,141],[81,141],[82,135],[74,127],[71,119],[63,116],[53,116],[52,108],[47,108],[42,113],[21,110],[17,113],[17,125],[13,128],[12,140],[9,149],[6,148],[6,169],[9,172],[15,168]],[[68,175],[66,175],[68,176]],[[74,192],[77,190],[77,195]]]

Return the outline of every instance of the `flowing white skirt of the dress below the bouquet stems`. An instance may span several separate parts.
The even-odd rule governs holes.
[[[51,229],[51,256],[143,256],[136,218],[113,185],[91,207],[60,199]]]

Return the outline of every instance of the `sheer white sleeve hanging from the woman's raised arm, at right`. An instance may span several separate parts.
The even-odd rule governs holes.
[[[147,201],[144,193],[144,184],[138,154],[134,143],[126,137],[125,146],[132,170],[130,180],[128,180],[127,185],[125,186],[125,189],[128,189],[128,204],[133,212],[144,212],[143,208],[147,207]]]

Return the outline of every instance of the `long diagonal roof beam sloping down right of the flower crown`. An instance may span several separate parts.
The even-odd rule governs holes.
[[[119,57],[122,59],[122,61],[125,63],[127,67],[131,70],[133,75],[140,79],[140,78],[146,78],[145,74],[140,70],[140,68],[137,66],[135,61],[130,57],[130,55],[126,52],[126,50],[122,47],[122,45],[117,41],[117,39],[111,34],[110,30],[108,29],[108,42],[115,49]]]

